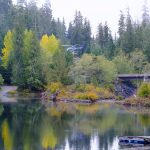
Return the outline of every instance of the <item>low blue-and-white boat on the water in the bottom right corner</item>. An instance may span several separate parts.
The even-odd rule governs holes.
[[[120,145],[148,145],[150,144],[150,136],[121,136],[119,137]]]

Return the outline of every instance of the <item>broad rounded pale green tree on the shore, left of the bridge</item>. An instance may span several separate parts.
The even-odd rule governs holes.
[[[116,72],[113,62],[108,61],[104,56],[84,54],[72,66],[69,75],[77,84],[91,83],[93,79],[100,84],[113,81],[116,77]]]

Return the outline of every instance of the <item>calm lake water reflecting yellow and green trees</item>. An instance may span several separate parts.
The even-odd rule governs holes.
[[[121,135],[150,135],[149,111],[35,101],[0,105],[0,150],[120,150]]]

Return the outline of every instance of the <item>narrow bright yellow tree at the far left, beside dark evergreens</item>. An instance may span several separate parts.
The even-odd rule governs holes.
[[[10,53],[13,50],[13,33],[8,31],[4,38],[4,48],[2,49],[2,65],[7,68]]]

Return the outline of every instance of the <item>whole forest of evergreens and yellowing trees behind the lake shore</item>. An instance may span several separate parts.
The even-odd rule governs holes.
[[[76,11],[69,26],[54,18],[51,3],[0,0],[0,83],[41,91],[46,85],[107,85],[117,74],[150,72],[150,16],[146,3],[142,20],[130,9],[120,11],[118,32],[105,23],[93,36],[90,18]],[[78,45],[75,52],[66,45]]]

